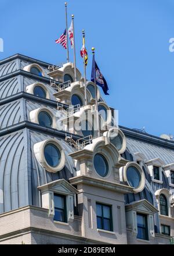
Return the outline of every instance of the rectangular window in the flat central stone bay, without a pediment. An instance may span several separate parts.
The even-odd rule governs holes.
[[[112,208],[106,204],[96,204],[97,229],[113,231]]]

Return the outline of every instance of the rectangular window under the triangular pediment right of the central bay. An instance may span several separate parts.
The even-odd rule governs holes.
[[[137,238],[148,240],[147,215],[137,214]]]

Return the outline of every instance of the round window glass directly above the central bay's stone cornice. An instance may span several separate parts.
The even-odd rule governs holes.
[[[106,177],[108,174],[108,162],[102,154],[96,154],[93,159],[93,165],[98,175]]]

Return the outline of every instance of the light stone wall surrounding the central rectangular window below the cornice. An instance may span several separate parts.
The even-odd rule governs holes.
[[[79,185],[78,190],[83,191],[78,194],[82,208],[82,236],[95,237],[103,243],[127,244],[124,194],[84,184]],[[97,230],[96,202],[112,205],[113,232]]]

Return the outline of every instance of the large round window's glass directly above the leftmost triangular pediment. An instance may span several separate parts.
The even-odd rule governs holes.
[[[44,157],[49,166],[56,168],[61,158],[59,148],[54,144],[47,144],[44,148]]]

